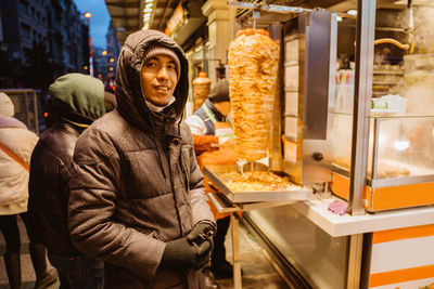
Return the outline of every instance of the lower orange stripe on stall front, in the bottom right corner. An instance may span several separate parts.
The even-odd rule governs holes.
[[[434,277],[434,265],[397,270],[371,275],[369,288]]]

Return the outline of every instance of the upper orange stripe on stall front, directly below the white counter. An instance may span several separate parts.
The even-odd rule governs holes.
[[[373,233],[373,244],[434,236],[434,225],[396,228]]]

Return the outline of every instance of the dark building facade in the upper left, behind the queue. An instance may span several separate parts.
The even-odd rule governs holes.
[[[73,0],[0,1],[0,78],[9,79],[0,86],[42,88],[65,73],[86,73],[89,28]]]

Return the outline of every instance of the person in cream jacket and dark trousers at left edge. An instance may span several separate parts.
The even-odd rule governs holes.
[[[46,247],[35,241],[27,218],[28,166],[38,136],[13,118],[14,105],[0,93],[0,229],[7,242],[4,264],[11,288],[21,288],[20,214],[29,237],[29,251],[36,273],[35,288],[47,288],[58,279],[53,267],[48,268]]]

